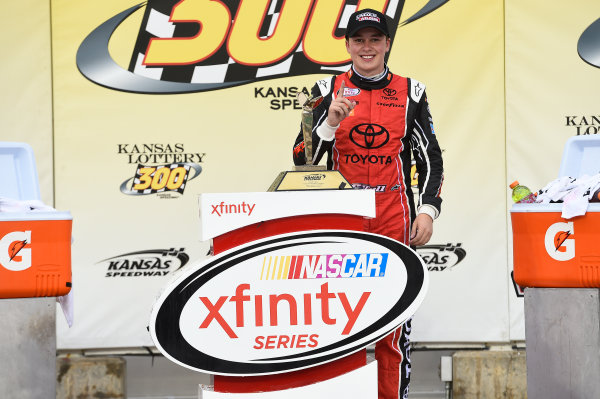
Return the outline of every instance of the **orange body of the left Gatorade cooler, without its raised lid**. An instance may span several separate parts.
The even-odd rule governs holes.
[[[0,213],[0,298],[71,290],[69,212]]]

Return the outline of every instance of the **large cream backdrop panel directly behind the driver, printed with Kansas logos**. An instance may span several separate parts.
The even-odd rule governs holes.
[[[300,121],[295,94],[347,68],[343,47],[324,54],[318,46],[308,46],[298,54],[299,42],[294,40],[310,38],[304,36],[310,26],[319,25],[293,18],[286,18],[285,26],[302,33],[273,42],[280,47],[252,38],[253,46],[267,47],[255,54],[244,52],[244,46],[230,48],[230,59],[224,56],[223,44],[214,37],[229,44],[242,40],[243,35],[233,36],[234,32],[256,25],[247,19],[250,25],[242,21],[226,34],[218,26],[207,27],[206,32],[216,33],[203,39],[215,40],[204,43],[204,53],[195,49],[194,59],[159,65],[150,57],[152,51],[163,63],[165,57],[189,55],[165,49],[165,43],[173,44],[165,39],[196,34],[182,33],[183,27],[165,20],[168,11],[163,6],[170,3],[148,2],[126,17],[121,13],[138,3],[51,3],[56,206],[70,210],[75,220],[75,324],[69,329],[59,322],[60,348],[152,345],[146,326],[153,301],[172,273],[185,268],[183,259],[194,262],[208,250],[208,243],[199,238],[198,194],[265,191],[278,172],[291,167]],[[268,3],[265,21],[270,26],[275,18],[284,20],[279,3]],[[338,4],[308,3],[315,13],[319,5]],[[415,317],[416,341],[508,339],[506,208],[465,197],[462,191],[463,177],[469,176],[493,197],[504,193],[504,154],[487,152],[490,147],[503,148],[504,142],[502,2],[464,3],[434,0],[426,3],[431,12],[424,12],[419,1],[360,2],[361,7],[387,7],[397,24],[389,66],[427,84],[444,151],[443,211],[430,245],[420,250],[432,276],[430,293]],[[211,12],[223,22],[235,18],[236,7],[247,1],[228,3],[229,15],[223,14],[223,3],[180,4],[184,16],[213,7]],[[355,5],[344,3],[340,20]],[[120,23],[107,25],[117,17]],[[329,22],[323,19],[323,26]],[[338,29],[336,35],[343,32]],[[92,33],[96,47],[88,47]],[[336,43],[332,36],[323,37],[328,45]],[[108,57],[99,51],[101,39],[108,40]],[[343,46],[343,39],[337,43]],[[146,44],[148,54],[142,52]],[[189,42],[179,44],[185,49]],[[272,63],[264,65],[265,60],[253,58],[269,54],[285,56],[271,57],[267,61]],[[323,61],[330,55],[332,59]],[[329,63],[316,69],[306,64],[306,59],[317,58]],[[465,65],[465,59],[476,61]],[[115,71],[122,80],[107,80],[110,74],[103,71]],[[206,81],[207,76],[220,80]],[[186,169],[179,164],[190,165]],[[492,166],[474,166],[483,164]]]

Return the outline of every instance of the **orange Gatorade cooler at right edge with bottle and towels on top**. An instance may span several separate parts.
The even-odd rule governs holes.
[[[600,172],[600,137],[567,141],[559,176]],[[587,213],[563,219],[562,203],[514,204],[513,265],[522,287],[600,287],[600,203]]]

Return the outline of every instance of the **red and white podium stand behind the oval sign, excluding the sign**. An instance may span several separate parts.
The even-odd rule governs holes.
[[[232,219],[237,219],[232,227],[237,228],[215,236],[216,232],[213,232],[215,228],[220,227],[217,231],[223,230],[220,223],[223,214],[219,216],[216,211],[213,213],[211,205],[220,206],[221,202],[240,204],[240,199],[242,203],[250,202],[247,207],[256,204],[255,206],[269,210],[269,214],[256,215],[256,219],[252,220],[245,220],[245,214],[232,214]],[[202,239],[212,239],[212,251],[217,255],[247,242],[278,234],[314,229],[362,231],[364,218],[375,216],[374,204],[374,192],[364,190],[203,194],[200,205]],[[275,216],[278,217],[274,218]],[[356,395],[358,389],[364,391],[360,397],[375,398],[377,377],[374,366],[375,364],[367,366],[366,349],[362,349],[325,365],[285,374],[249,377],[215,375],[214,393],[219,397],[234,398],[237,396],[222,396],[222,394],[263,392],[264,395],[264,392],[270,391],[268,397],[273,398],[287,399],[297,393],[302,397],[310,395],[316,399],[330,398],[331,389],[336,395],[344,389]],[[361,368],[363,370],[357,370]],[[371,380],[370,383],[368,380]],[[313,384],[315,385],[312,390],[306,387]],[[211,395],[212,391],[200,388],[200,397],[208,399],[212,397]]]

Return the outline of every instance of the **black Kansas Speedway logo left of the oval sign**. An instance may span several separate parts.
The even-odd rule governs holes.
[[[188,263],[190,257],[184,250],[170,248],[129,252],[103,259],[98,264],[106,265],[105,277],[162,277]]]

